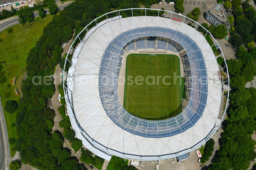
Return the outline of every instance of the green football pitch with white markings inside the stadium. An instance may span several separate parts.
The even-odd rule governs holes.
[[[183,93],[184,78],[180,77],[178,56],[127,56],[123,106],[129,113],[148,120],[174,117],[182,111]]]

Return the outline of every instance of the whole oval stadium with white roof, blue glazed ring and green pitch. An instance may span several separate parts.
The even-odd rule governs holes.
[[[162,17],[163,12],[171,17]],[[96,18],[77,35],[66,58],[63,88],[72,129],[84,147],[107,160],[115,155],[175,161],[219,128],[227,109],[227,102],[221,103],[229,96],[222,91],[229,79],[222,80],[220,72],[227,67],[220,70],[216,60],[224,55],[213,53],[195,29],[199,23],[193,28],[185,19],[159,9],[123,9]],[[182,83],[149,80],[132,90],[127,72],[143,78],[176,73],[170,81]]]

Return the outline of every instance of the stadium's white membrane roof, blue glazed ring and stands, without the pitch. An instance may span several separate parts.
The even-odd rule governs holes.
[[[69,70],[63,85],[76,137],[107,160],[112,155],[141,161],[175,160],[204,144],[219,128],[222,98],[219,66],[204,36],[169,18],[106,18],[90,29],[86,27],[81,32],[86,33],[84,37],[77,36],[80,43],[76,48],[71,46],[72,59],[66,59]],[[148,44],[145,37],[150,36],[157,39]],[[191,80],[191,87],[187,87],[191,88],[190,98],[175,117],[141,119],[127,112],[119,101],[117,81],[122,55],[147,48],[173,51],[189,62],[191,75],[185,77]]]

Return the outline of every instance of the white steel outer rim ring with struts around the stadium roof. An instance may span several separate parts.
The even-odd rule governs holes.
[[[172,18],[172,15],[175,14],[175,15],[184,17],[183,22],[185,21],[185,19],[189,19],[190,21],[195,22],[195,23],[196,23],[196,26],[197,26],[197,25],[201,26],[198,22],[196,22],[196,21],[194,21],[194,20],[192,20],[192,19],[190,19],[190,18],[188,18],[188,17],[186,17],[186,16],[183,16],[183,15],[181,15],[181,14],[177,14],[177,13],[174,13],[174,12],[168,11],[168,10],[150,9],[150,8],[129,8],[129,9],[115,10],[115,11],[111,11],[111,12],[109,12],[109,13],[106,13],[106,14],[104,14],[104,15],[102,15],[102,16],[96,18],[96,19],[94,19],[93,21],[91,21],[86,27],[83,28],[83,30],[82,30],[82,31],[76,36],[76,38],[74,39],[74,41],[73,41],[73,43],[71,44],[71,46],[70,46],[70,48],[69,48],[69,51],[68,51],[68,53],[67,53],[67,56],[66,56],[66,59],[65,59],[65,64],[64,64],[64,70],[63,70],[63,89],[64,89],[64,92],[65,92],[65,101],[66,101],[66,103],[67,103],[67,108],[68,108],[69,117],[70,117],[71,119],[73,119],[74,122],[78,122],[78,121],[77,121],[76,116],[75,116],[75,114],[74,114],[74,108],[73,108],[72,99],[70,99],[70,97],[72,97],[73,89],[72,89],[72,88],[67,88],[67,87],[65,86],[65,82],[67,82],[67,80],[66,80],[67,77],[68,77],[68,76],[69,76],[69,77],[74,76],[74,73],[73,73],[73,75],[72,75],[72,74],[68,74],[68,71],[67,71],[67,73],[65,73],[65,69],[66,69],[66,64],[67,64],[67,62],[70,62],[69,59],[68,59],[68,57],[69,57],[69,55],[70,55],[71,49],[73,49],[73,53],[72,53],[71,55],[74,55],[74,53],[76,53],[76,55],[79,55],[81,49],[78,49],[79,52],[76,52],[77,49],[76,49],[75,47],[73,48],[72,46],[77,43],[77,39],[78,39],[78,40],[80,40],[80,43],[82,43],[82,47],[83,47],[83,45],[84,45],[84,43],[87,41],[88,37],[93,33],[93,32],[89,33],[90,30],[91,30],[90,25],[91,25],[93,22],[96,23],[96,27],[98,28],[98,27],[100,27],[100,26],[98,26],[99,23],[97,24],[97,21],[96,21],[96,20],[98,20],[98,19],[100,19],[101,17],[104,17],[104,16],[105,16],[107,22],[109,22],[109,19],[110,19],[110,18],[108,18],[107,15],[108,15],[108,14],[112,14],[112,13],[113,13],[113,14],[117,14],[117,13],[118,13],[119,18],[121,18],[120,12],[122,13],[122,11],[125,11],[125,10],[131,10],[131,12],[132,12],[132,17],[133,17],[133,10],[145,10],[145,16],[146,16],[146,10],[155,10],[155,11],[158,11],[158,17],[160,17],[160,16],[159,16],[159,12],[160,12],[160,11],[163,11],[163,12],[171,13],[171,18]],[[202,27],[202,26],[201,26],[201,27]],[[206,37],[207,34],[209,34],[209,35],[213,38],[213,40],[215,41],[215,43],[217,43],[217,45],[219,46],[218,42],[215,40],[215,38],[212,36],[212,34],[211,34],[207,29],[205,29],[204,27],[202,27],[202,28],[206,31],[205,37]],[[87,38],[84,42],[81,41],[81,39],[79,38],[79,36],[80,36],[80,37],[83,37],[83,36],[81,36],[81,35],[83,35],[83,33],[85,33],[86,35],[87,35],[87,33],[89,33],[89,36],[86,36],[86,35],[84,36],[85,38]],[[209,133],[209,135],[205,138],[205,142],[208,141],[208,140],[212,137],[212,135],[214,134],[214,132],[216,132],[216,130],[220,127],[221,122],[222,122],[222,120],[223,120],[223,118],[224,118],[224,116],[225,116],[225,113],[226,113],[226,111],[227,111],[227,105],[228,105],[228,99],[229,99],[229,73],[228,73],[228,67],[227,67],[227,63],[226,63],[224,54],[223,54],[223,52],[222,52],[221,49],[220,49],[220,51],[221,51],[221,54],[220,54],[220,55],[222,55],[222,57],[224,58],[224,62],[225,62],[225,65],[226,65],[225,68],[226,68],[226,70],[227,70],[227,77],[228,77],[228,80],[225,81],[225,82],[228,82],[228,94],[226,95],[226,96],[227,96],[227,102],[226,102],[225,110],[219,112],[219,113],[224,112],[224,113],[223,113],[223,116],[222,116],[222,118],[221,118],[220,124],[219,124],[218,126],[214,126],[214,128],[211,130],[211,133]],[[219,55],[219,56],[220,56],[220,55]],[[219,57],[219,56],[218,56],[218,57]],[[72,62],[70,62],[70,63],[71,63],[71,65],[74,66],[74,69],[75,69],[75,64],[73,64]],[[68,68],[68,69],[69,69],[69,68]],[[225,82],[224,82],[224,83],[225,83]],[[69,82],[67,82],[67,86],[70,85],[70,84],[68,84],[68,83],[69,83]],[[222,84],[223,84],[223,83],[222,83]],[[70,87],[73,87],[73,86],[70,86]],[[223,96],[223,97],[225,97],[225,96]],[[175,155],[159,155],[158,159],[156,159],[155,157],[154,157],[154,158],[151,158],[151,157],[147,157],[147,158],[144,158],[144,157],[138,158],[138,157],[135,157],[135,156],[133,156],[133,155],[124,155],[123,153],[117,154],[116,152],[112,152],[112,151],[109,150],[108,148],[103,147],[100,143],[94,142],[94,140],[93,140],[90,136],[87,135],[87,133],[81,128],[81,126],[80,126],[78,123],[73,123],[73,122],[71,121],[71,125],[72,125],[72,127],[76,127],[76,128],[74,128],[74,129],[77,129],[77,128],[80,129],[79,132],[80,132],[80,133],[84,136],[84,138],[92,145],[92,147],[94,147],[94,148],[100,150],[101,152],[103,152],[103,153],[105,153],[105,154],[107,154],[107,155],[116,155],[116,156],[122,157],[122,158],[124,158],[124,159],[133,159],[133,160],[139,160],[139,161],[143,161],[143,160],[148,160],[148,161],[150,161],[150,160],[152,160],[152,161],[153,161],[153,160],[157,160],[157,161],[159,161],[159,160],[163,160],[163,159],[176,158],[176,156],[179,155],[179,154],[177,154],[177,153],[176,153]],[[88,138],[88,139],[87,139],[87,138]],[[89,140],[89,139],[91,139],[91,140]],[[205,143],[205,142],[204,142],[204,143]],[[202,144],[202,143],[199,143],[198,145],[195,145],[195,147],[193,147],[193,148],[198,148],[198,147],[200,147],[201,144]],[[191,148],[191,150],[186,151],[186,152],[183,152],[182,154],[189,153],[189,152],[191,152],[191,151],[193,151],[193,150],[195,150],[195,149],[192,149],[192,148]]]

